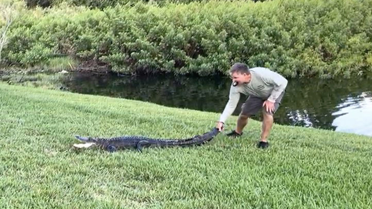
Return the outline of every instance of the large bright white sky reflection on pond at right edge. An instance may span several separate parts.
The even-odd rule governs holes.
[[[348,97],[339,106],[332,125],[335,131],[372,136],[372,92],[362,92],[357,97]]]

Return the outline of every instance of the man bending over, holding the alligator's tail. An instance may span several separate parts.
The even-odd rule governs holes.
[[[257,144],[259,148],[269,146],[267,137],[273,125],[273,114],[278,110],[288,81],[280,74],[267,68],[256,67],[249,69],[246,64],[235,63],[230,69],[232,84],[229,100],[222,112],[217,128],[222,131],[225,120],[234,112],[240,93],[249,95],[241,107],[235,130],[227,134],[231,137],[241,136],[248,118],[259,110],[263,112],[261,139]],[[235,86],[235,84],[237,85]]]

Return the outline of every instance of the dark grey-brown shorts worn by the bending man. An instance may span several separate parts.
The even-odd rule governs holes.
[[[248,99],[246,100],[246,102],[244,102],[243,105],[241,106],[241,113],[240,114],[241,115],[246,115],[246,116],[256,115],[256,113],[259,110],[263,110],[266,113],[269,113],[270,115],[273,115],[276,112],[276,110],[278,110],[284,94],[285,94],[285,90],[275,100],[274,112],[267,112],[266,111],[266,106],[265,107],[262,106],[263,103],[265,102],[265,99],[262,99],[262,98],[256,97],[256,96],[249,96]]]

